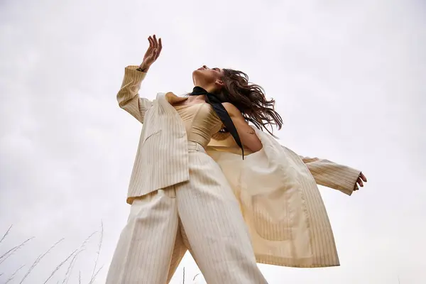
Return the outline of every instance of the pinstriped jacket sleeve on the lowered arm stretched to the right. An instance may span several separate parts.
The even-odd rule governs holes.
[[[360,170],[339,165],[330,160],[303,156],[300,156],[300,158],[310,170],[318,185],[339,190],[346,195],[351,195],[354,190],[358,190],[356,180],[361,174]]]

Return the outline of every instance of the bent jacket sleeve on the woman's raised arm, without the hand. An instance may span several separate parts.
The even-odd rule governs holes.
[[[149,99],[139,97],[141,82],[146,76],[146,72],[136,70],[138,66],[131,65],[124,70],[124,79],[121,89],[117,94],[117,101],[121,109],[126,110],[143,124],[143,116],[152,107],[153,102]]]

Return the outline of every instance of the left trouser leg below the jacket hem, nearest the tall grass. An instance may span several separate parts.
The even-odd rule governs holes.
[[[107,284],[164,284],[178,231],[175,189],[157,190],[131,205]]]

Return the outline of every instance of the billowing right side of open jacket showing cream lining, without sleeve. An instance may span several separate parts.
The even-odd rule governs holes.
[[[263,149],[244,161],[224,148],[208,150],[239,198],[256,261],[305,268],[338,266],[327,212],[307,166],[272,136],[253,129]]]

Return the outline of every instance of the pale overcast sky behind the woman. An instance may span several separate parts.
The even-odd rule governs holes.
[[[271,284],[426,281],[426,4],[361,1],[0,1],[0,282],[53,269],[104,224],[104,283],[126,224],[141,124],[119,108],[148,35],[163,52],[141,94],[192,89],[203,64],[248,73],[276,99],[280,143],[363,170],[351,197],[320,187],[341,266],[260,265]],[[1,236],[0,236],[1,237]],[[89,283],[99,234],[69,283]],[[172,283],[199,273],[190,256]],[[52,278],[64,278],[64,266]],[[13,283],[13,281],[11,282]],[[19,281],[15,281],[19,283]],[[197,283],[204,283],[201,278]]]

